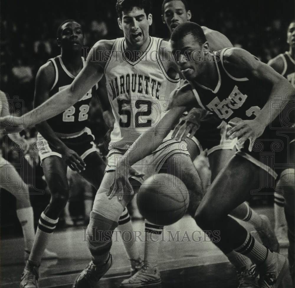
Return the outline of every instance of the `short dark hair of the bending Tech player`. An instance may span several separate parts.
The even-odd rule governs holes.
[[[200,45],[207,41],[202,27],[194,22],[179,24],[171,34],[171,41],[177,42],[188,34],[193,35]]]

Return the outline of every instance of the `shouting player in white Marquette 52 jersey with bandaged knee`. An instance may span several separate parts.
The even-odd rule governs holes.
[[[171,91],[179,83],[177,67],[172,61],[168,61],[169,43],[150,37],[148,34],[149,26],[152,24],[150,1],[119,0],[116,7],[119,27],[124,32],[124,38],[97,42],[88,55],[86,65],[72,84],[34,109],[28,119],[24,119],[24,125],[30,126],[63,112],[66,107],[81,99],[103,75],[106,76],[109,100],[116,122],[111,135],[108,166],[94,200],[87,230],[92,261],[78,276],[73,287],[95,287],[101,276],[110,268],[112,256],[109,251],[112,238],[109,236],[117,227],[119,217],[131,198],[127,195],[123,201],[119,201],[116,197],[110,200],[106,196],[106,192],[114,183],[115,163],[125,153],[130,143],[132,144],[137,138],[138,133],[140,135],[148,127],[156,127],[168,107]],[[102,58],[106,54],[109,57]],[[146,60],[151,58],[155,60]],[[14,120],[17,127],[18,120],[17,118]],[[153,173],[153,170],[161,171],[162,166],[168,167],[168,173],[179,176],[181,173],[179,167],[181,167],[185,171],[182,181],[189,189],[196,191],[190,200],[191,203],[200,202],[203,197],[201,181],[189,153],[182,147],[180,141],[168,140],[167,144],[169,149],[158,149],[145,159],[147,165],[151,166],[152,163],[155,165],[155,168],[152,167],[150,171],[145,172],[145,177],[149,176],[149,172]],[[79,163],[83,164],[81,161]],[[147,166],[146,163],[139,166],[141,168]],[[164,170],[167,173],[167,168]],[[137,179],[142,181],[139,177],[141,173],[136,175]],[[104,241],[95,241],[98,231],[106,232]],[[152,233],[146,233],[147,238],[151,235]],[[155,240],[154,237],[153,240]],[[149,243],[148,239],[146,245]],[[153,258],[157,257],[155,247],[153,245],[146,249],[145,259],[149,259],[149,263],[153,263]],[[159,283],[158,267],[146,266],[145,268],[150,274],[148,284]]]

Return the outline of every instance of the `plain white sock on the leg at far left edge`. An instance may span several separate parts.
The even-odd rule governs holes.
[[[17,209],[17,218],[22,225],[24,250],[31,251],[35,239],[34,213],[32,207]]]

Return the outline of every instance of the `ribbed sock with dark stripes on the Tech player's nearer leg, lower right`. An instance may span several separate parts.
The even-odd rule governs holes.
[[[265,261],[268,254],[267,248],[258,241],[255,241],[250,233],[247,233],[246,240],[240,247],[236,248],[235,251],[247,256],[255,264],[260,264]]]

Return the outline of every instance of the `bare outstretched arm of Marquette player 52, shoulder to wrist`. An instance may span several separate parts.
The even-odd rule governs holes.
[[[106,46],[105,40],[97,42],[88,54],[86,65],[69,87],[59,91],[37,108],[24,114],[24,127],[36,125],[60,114],[78,102],[89,89],[95,86],[104,73],[104,59],[101,59],[100,55],[104,55]]]

